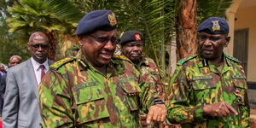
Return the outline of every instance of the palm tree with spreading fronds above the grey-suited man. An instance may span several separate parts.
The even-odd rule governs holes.
[[[21,0],[9,9],[9,32],[43,31],[50,40],[49,59],[55,60],[58,34],[73,34],[82,17],[79,9],[68,0]]]

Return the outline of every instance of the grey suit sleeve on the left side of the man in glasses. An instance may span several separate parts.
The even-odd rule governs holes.
[[[3,127],[15,128],[18,121],[19,88],[15,74],[9,71],[6,78],[6,91],[3,103]]]

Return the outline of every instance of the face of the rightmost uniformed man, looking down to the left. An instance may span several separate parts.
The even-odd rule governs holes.
[[[199,33],[199,54],[207,59],[215,60],[221,58],[224,47],[230,42],[230,37],[225,34]]]

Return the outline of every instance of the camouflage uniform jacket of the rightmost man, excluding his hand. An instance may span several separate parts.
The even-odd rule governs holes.
[[[190,56],[177,63],[170,82],[168,119],[183,128],[245,128],[249,127],[246,76],[240,61],[224,55],[221,72],[206,59]],[[238,115],[226,118],[203,116],[202,107],[227,102]]]

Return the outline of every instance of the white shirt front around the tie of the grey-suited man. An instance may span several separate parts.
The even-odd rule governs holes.
[[[32,66],[34,69],[34,73],[36,74],[36,79],[38,84],[40,84],[41,82],[41,68],[40,65],[44,65],[44,73],[46,73],[49,70],[49,65],[48,65],[48,59],[46,61],[44,61],[44,63],[40,64],[38,63],[38,61],[35,61],[33,58],[31,59],[32,61]]]

